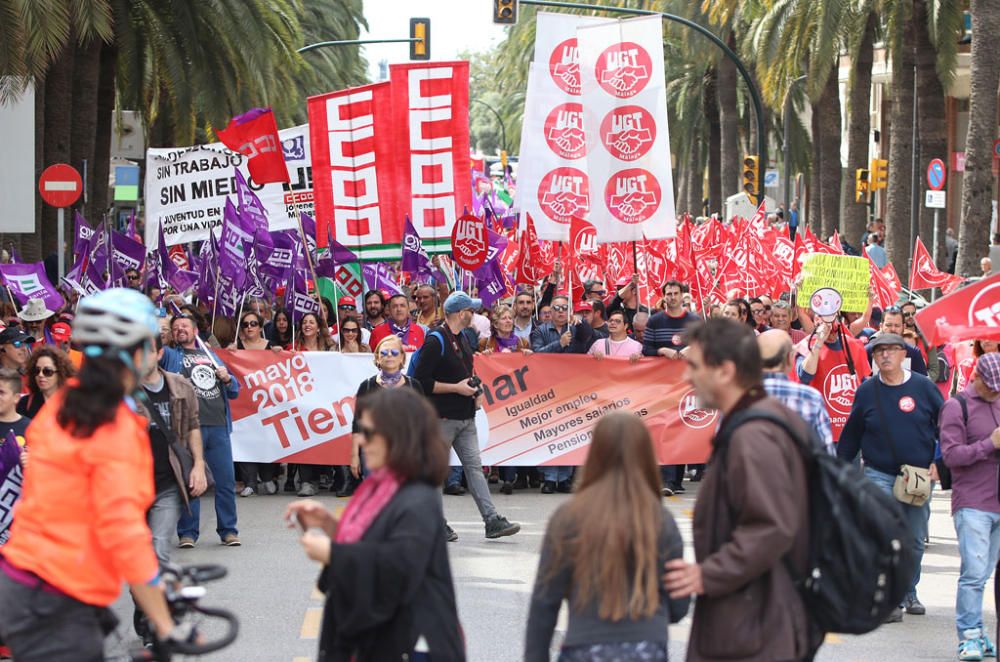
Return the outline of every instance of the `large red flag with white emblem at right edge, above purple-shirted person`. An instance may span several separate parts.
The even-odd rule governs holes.
[[[917,313],[931,346],[962,340],[1000,340],[1000,274],[938,299]]]

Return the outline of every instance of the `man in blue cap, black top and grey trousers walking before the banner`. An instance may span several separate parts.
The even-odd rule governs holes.
[[[452,292],[444,302],[445,322],[427,334],[414,377],[441,418],[441,431],[449,448],[454,448],[465,470],[465,480],[479,514],[486,525],[487,538],[512,536],[521,525],[497,513],[483,476],[476,434],[476,410],[482,390],[473,366],[473,349],[462,333],[472,322],[472,311],[482,305],[462,291]],[[457,540],[446,526],[449,539]]]

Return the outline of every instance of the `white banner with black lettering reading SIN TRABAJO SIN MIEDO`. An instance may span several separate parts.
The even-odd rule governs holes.
[[[146,150],[146,245],[156,246],[161,224],[170,246],[207,239],[221,227],[226,198],[236,195],[234,166],[260,198],[271,230],[298,227],[300,213],[313,214],[309,126],[284,129],[278,137],[288,184],[257,184],[246,158],[222,143]]]

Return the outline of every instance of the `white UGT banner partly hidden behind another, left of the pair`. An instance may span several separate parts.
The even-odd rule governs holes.
[[[576,31],[607,19],[539,12],[537,20],[521,131],[517,207],[531,215],[539,239],[566,241],[570,218],[586,219],[591,197]]]

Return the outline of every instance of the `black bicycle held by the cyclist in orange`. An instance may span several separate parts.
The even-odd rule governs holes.
[[[194,628],[202,617],[223,621],[226,630],[221,637],[198,643],[160,642],[152,649],[137,649],[127,655],[105,658],[105,662],[170,662],[174,655],[207,655],[232,644],[240,629],[236,615],[226,609],[199,604],[199,600],[208,593],[202,584],[222,579],[227,573],[221,565],[165,565],[160,571],[165,586],[164,597],[174,623],[189,624]]]

